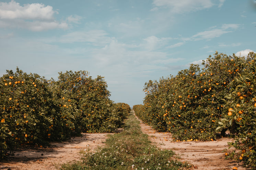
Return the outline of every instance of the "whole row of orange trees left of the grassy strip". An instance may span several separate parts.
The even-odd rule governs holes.
[[[55,81],[17,68],[0,81],[0,158],[24,144],[114,131],[128,114],[129,105],[109,100],[103,77],[92,79],[87,71],[59,73]]]

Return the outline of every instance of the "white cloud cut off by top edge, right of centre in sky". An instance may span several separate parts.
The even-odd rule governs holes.
[[[211,0],[153,0],[153,4],[156,7],[168,7],[172,13],[188,13],[211,8],[213,6]],[[151,9],[151,11],[155,10],[155,7]]]

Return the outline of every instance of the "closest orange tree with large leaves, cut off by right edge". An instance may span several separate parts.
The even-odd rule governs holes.
[[[221,125],[217,129],[232,129],[234,142],[229,145],[235,150],[228,157],[244,160],[252,168],[256,168],[256,54],[250,52],[244,61],[237,62],[236,74],[230,82],[229,93],[224,97],[225,105]]]

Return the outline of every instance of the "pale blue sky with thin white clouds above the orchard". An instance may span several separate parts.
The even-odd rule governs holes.
[[[255,38],[255,0],[0,0],[0,76],[86,70],[130,107],[149,80],[216,51],[246,56]]]

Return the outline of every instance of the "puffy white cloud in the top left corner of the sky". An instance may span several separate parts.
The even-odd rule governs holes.
[[[66,22],[54,20],[52,6],[42,3],[24,4],[12,0],[11,2],[0,2],[0,27],[1,28],[23,28],[32,31],[44,31],[49,29],[67,29]]]

